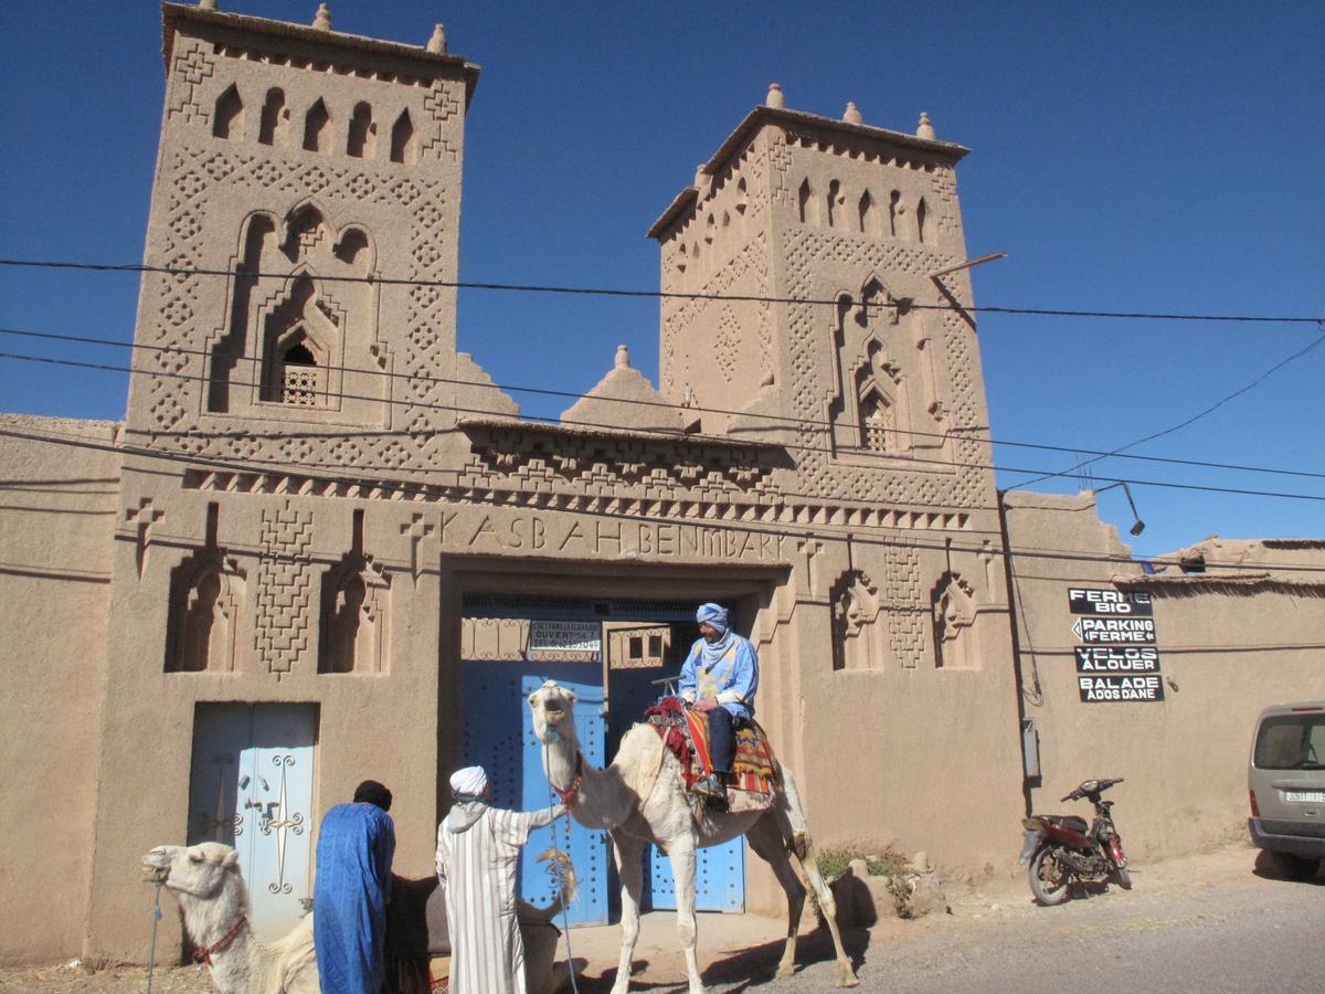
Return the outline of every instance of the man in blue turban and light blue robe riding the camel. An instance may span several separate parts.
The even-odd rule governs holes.
[[[681,667],[681,700],[709,714],[709,751],[713,773],[694,785],[694,791],[725,799],[735,758],[735,732],[754,717],[759,689],[759,656],[749,639],[731,631],[727,610],[701,604],[694,615],[700,639]]]

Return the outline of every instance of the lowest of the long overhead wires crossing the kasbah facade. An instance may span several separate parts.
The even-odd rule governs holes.
[[[144,447],[135,447],[135,445],[126,445],[123,443],[119,443],[119,444],[99,443],[99,441],[93,441],[93,440],[85,439],[85,437],[76,437],[76,436],[64,436],[64,437],[61,437],[61,436],[52,436],[52,435],[41,435],[41,433],[13,431],[13,429],[9,429],[9,428],[0,428],[0,436],[12,437],[12,439],[23,439],[23,440],[26,440],[26,441],[48,443],[48,444],[53,444],[53,445],[68,445],[68,447],[72,447],[72,448],[85,448],[85,449],[93,449],[93,451],[99,451],[99,452],[111,452],[111,453],[118,453],[118,455],[138,456],[138,457],[150,459],[150,460],[159,460],[159,461],[164,461],[164,463],[176,463],[176,464],[182,464],[182,465],[191,467],[191,468],[195,468],[195,469],[199,468],[199,467],[208,467],[208,468],[211,468],[213,470],[231,472],[231,473],[266,473],[266,472],[269,472],[269,469],[278,469],[278,470],[282,470],[284,473],[290,474],[290,476],[297,476],[297,477],[303,478],[303,480],[311,480],[311,481],[323,482],[323,484],[362,484],[362,482],[371,482],[375,489],[379,489],[379,490],[383,490],[383,492],[387,492],[387,493],[401,493],[401,494],[404,494],[407,497],[411,496],[411,494],[427,494],[429,490],[437,490],[437,489],[456,489],[456,490],[465,490],[465,489],[468,489],[468,488],[456,486],[456,485],[447,486],[447,485],[437,485],[437,484],[417,484],[417,482],[411,482],[411,481],[405,481],[405,480],[382,478],[382,477],[372,477],[368,481],[364,481],[362,478],[346,477],[346,476],[338,476],[338,474],[302,473],[302,472],[293,472],[292,473],[290,472],[292,468],[293,469],[299,469],[303,464],[301,464],[298,461],[285,461],[285,460],[282,460],[282,461],[276,461],[276,460],[245,460],[245,461],[236,463],[236,461],[232,461],[232,460],[221,460],[221,459],[213,459],[213,457],[197,457],[197,456],[192,456],[192,455],[189,455],[187,452],[166,452],[163,449],[144,448]],[[530,496],[533,496],[533,494],[530,494]],[[519,505],[515,505],[515,504],[511,504],[511,502],[482,500],[482,498],[474,498],[472,496],[466,496],[466,502],[469,502],[472,505],[478,505],[478,506],[504,508],[504,509],[507,509],[507,510],[511,510],[511,509],[519,510],[521,509]],[[926,550],[926,551],[955,551],[955,553],[990,554],[990,555],[1003,557],[1004,559],[1027,558],[1027,559],[1052,559],[1052,561],[1068,561],[1068,562],[1117,563],[1117,565],[1126,565],[1126,566],[1137,566],[1137,565],[1140,565],[1140,561],[1133,559],[1130,557],[1126,557],[1126,555],[1109,555],[1106,553],[1083,553],[1083,551],[1079,551],[1079,550],[1037,549],[1037,547],[1031,547],[1031,546],[1019,547],[1019,549],[1003,549],[1003,547],[995,547],[992,545],[988,546],[988,547],[986,547],[983,545],[982,546],[963,546],[963,545],[957,545],[957,543],[954,543],[951,541],[945,541],[942,543],[937,543],[937,542],[926,543],[926,542],[922,542],[922,541],[918,541],[918,539],[888,539],[888,538],[882,538],[882,537],[863,537],[863,535],[859,534],[859,531],[848,531],[848,530],[845,530],[845,529],[843,529],[840,526],[832,526],[832,525],[816,525],[816,526],[812,526],[812,527],[787,527],[787,526],[784,526],[783,524],[779,522],[778,525],[774,525],[774,526],[770,526],[770,527],[759,527],[759,526],[751,526],[751,525],[745,524],[745,522],[722,521],[722,520],[718,520],[718,518],[668,518],[668,517],[661,517],[661,516],[656,516],[656,514],[623,514],[620,512],[599,512],[599,510],[587,510],[587,509],[583,509],[583,508],[555,508],[555,509],[551,509],[551,513],[556,513],[556,514],[575,514],[575,516],[592,517],[592,518],[611,518],[611,520],[620,520],[620,521],[643,521],[643,522],[665,524],[665,525],[694,525],[694,526],[698,526],[698,527],[710,527],[710,529],[727,530],[727,531],[745,531],[745,533],[753,533],[753,534],[767,534],[768,531],[774,531],[774,533],[780,533],[780,534],[787,534],[787,535],[796,535],[796,537],[804,537],[804,538],[815,538],[815,537],[818,537],[818,538],[827,538],[827,537],[835,537],[835,538],[841,538],[844,541],[851,541],[851,542],[857,543],[857,545],[877,545],[877,546],[897,547],[897,549],[921,549],[921,550]],[[1169,565],[1178,566],[1179,565],[1179,562],[1177,559],[1170,561],[1170,559],[1166,559],[1163,557],[1149,559],[1149,562],[1151,562],[1151,563],[1159,563],[1159,565],[1165,565],[1165,566],[1169,566]],[[1214,559],[1206,559],[1204,565],[1206,565],[1207,570],[1208,569],[1226,569],[1226,570],[1255,573],[1255,574],[1264,574],[1264,573],[1325,573],[1325,566],[1309,566],[1309,565],[1301,565],[1300,566],[1300,565],[1295,565],[1295,563],[1240,563],[1240,562],[1218,562],[1218,561],[1214,561]],[[1136,578],[1136,580],[1138,580],[1138,582],[1143,580],[1143,579],[1145,579],[1143,577],[1137,577]],[[1215,577],[1214,579],[1219,579],[1219,577]],[[1228,579],[1232,579],[1232,578],[1228,578]],[[1124,580],[1124,582],[1126,582],[1126,580]]]

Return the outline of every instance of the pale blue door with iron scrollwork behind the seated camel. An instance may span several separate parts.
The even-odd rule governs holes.
[[[313,753],[307,704],[199,704],[193,716],[188,844],[240,854],[253,929],[278,938],[313,896]]]

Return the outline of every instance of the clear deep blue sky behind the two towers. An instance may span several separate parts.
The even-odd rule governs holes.
[[[314,0],[221,0],[310,23]],[[1325,4],[433,4],[337,0],[338,30],[482,66],[461,278],[656,289],[653,219],[771,81],[787,106],[973,150],[958,171],[977,302],[1325,317]],[[0,4],[0,256],[142,256],[160,119],[150,0]],[[0,326],[129,341],[130,276],[0,270]],[[1110,449],[1196,414],[1316,325],[986,315],[996,437]],[[502,383],[587,390],[617,342],[656,380],[657,302],[465,292],[460,345]],[[0,351],[70,355],[0,335]],[[82,358],[123,360],[82,347]],[[1138,452],[1325,473],[1325,346]],[[118,419],[125,376],[0,359],[0,410]],[[518,395],[534,415],[567,404]],[[1063,453],[998,448],[1006,467]],[[1325,494],[1325,480],[1110,459],[1094,472]],[[1027,474],[1000,472],[1002,486]],[[1068,474],[1037,486],[1075,492]],[[1325,535],[1325,504],[1134,486],[1137,554]],[[1120,490],[1106,520],[1130,524]]]

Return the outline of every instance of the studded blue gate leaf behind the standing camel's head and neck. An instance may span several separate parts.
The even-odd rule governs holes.
[[[543,773],[542,745],[526,698],[555,680],[575,692],[575,725],[586,762],[603,766],[602,664],[466,661],[461,671],[464,694],[462,763],[488,771],[492,801],[498,807],[534,811],[555,803]],[[556,846],[575,864],[579,895],[568,909],[572,925],[607,924],[607,835],[566,819],[539,828],[529,838],[519,864],[519,896],[537,905],[550,904],[556,884],[538,856]]]

